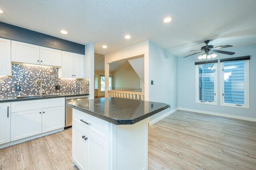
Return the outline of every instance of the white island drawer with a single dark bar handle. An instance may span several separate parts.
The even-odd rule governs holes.
[[[107,121],[73,109],[73,123],[76,123],[100,140],[108,143],[109,123]]]

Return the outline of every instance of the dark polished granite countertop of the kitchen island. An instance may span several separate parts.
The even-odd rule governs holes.
[[[117,97],[82,99],[67,105],[115,125],[132,125],[169,108],[166,103]]]

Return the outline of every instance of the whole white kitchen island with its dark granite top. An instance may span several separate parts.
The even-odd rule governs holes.
[[[148,117],[165,103],[122,98],[83,99],[73,108],[72,160],[80,170],[148,169]]]

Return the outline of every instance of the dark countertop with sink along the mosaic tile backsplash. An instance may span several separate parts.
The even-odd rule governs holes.
[[[53,94],[56,95],[56,94]],[[71,93],[71,94],[60,94],[56,96],[52,95],[35,95],[33,98],[22,98],[17,99],[17,97],[5,97],[0,99],[0,103],[4,102],[13,102],[13,101],[26,101],[26,100],[40,100],[40,99],[52,99],[52,98],[58,98],[58,97],[75,97],[75,96],[87,96],[89,93]]]

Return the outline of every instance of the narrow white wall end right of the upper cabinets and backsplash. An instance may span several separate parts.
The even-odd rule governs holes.
[[[85,78],[89,78],[89,99],[94,99],[94,43],[85,45]]]

